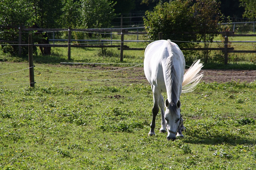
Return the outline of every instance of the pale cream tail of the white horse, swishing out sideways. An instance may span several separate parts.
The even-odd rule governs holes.
[[[203,65],[202,63],[200,63],[200,60],[195,61],[191,65],[191,67],[184,74],[181,92],[186,93],[186,92],[192,92],[194,90],[195,86],[199,83],[199,81],[203,77],[203,73],[198,74],[202,67]]]

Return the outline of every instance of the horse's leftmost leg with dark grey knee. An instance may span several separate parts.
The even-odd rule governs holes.
[[[154,86],[152,87],[152,91],[153,91],[154,106],[152,108],[152,122],[150,124],[150,131],[148,133],[149,136],[155,135],[155,119],[156,119],[156,115],[159,112],[159,107],[158,107],[159,93],[156,91]]]

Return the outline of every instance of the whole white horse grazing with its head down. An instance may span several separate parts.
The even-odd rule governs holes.
[[[160,132],[166,132],[167,128],[168,140],[175,140],[176,135],[184,137],[181,132],[185,127],[180,114],[180,94],[181,92],[194,90],[203,76],[202,73],[198,74],[202,66],[200,60],[198,60],[184,75],[185,58],[177,44],[170,40],[159,40],[147,46],[145,49],[144,72],[151,84],[154,99],[153,119],[148,135],[155,135],[155,119],[160,107],[162,118]],[[162,92],[167,92],[165,101]],[[164,106],[166,107],[165,112]]]

